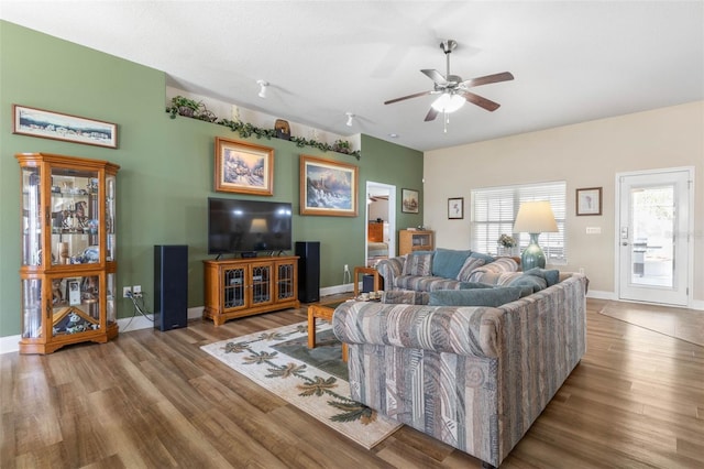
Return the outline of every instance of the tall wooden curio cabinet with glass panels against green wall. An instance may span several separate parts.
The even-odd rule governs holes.
[[[20,153],[20,353],[118,335],[116,189],[120,166]]]

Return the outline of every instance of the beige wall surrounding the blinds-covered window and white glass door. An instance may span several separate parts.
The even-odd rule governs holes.
[[[499,112],[508,112],[507,109]],[[459,131],[449,129],[449,131]],[[471,131],[471,130],[470,130]],[[704,101],[565,126],[425,153],[424,222],[437,246],[469,248],[471,192],[477,187],[547,181],[568,186],[568,265],[584,268],[590,288],[615,290],[616,174],[694,166],[694,299],[704,299]],[[575,217],[575,189],[603,187],[601,217]],[[464,197],[463,220],[448,220],[450,197]],[[586,234],[586,227],[601,234]]]

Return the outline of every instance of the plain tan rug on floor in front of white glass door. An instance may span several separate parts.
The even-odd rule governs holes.
[[[704,347],[704,313],[698,310],[628,302],[608,302],[598,313]]]

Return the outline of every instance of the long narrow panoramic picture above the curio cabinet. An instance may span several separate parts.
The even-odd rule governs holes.
[[[12,105],[12,133],[85,145],[118,148],[118,124]]]

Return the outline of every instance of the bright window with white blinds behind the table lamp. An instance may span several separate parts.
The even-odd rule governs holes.
[[[522,201],[548,200],[552,206],[559,232],[541,233],[539,244],[548,263],[566,263],[564,218],[566,184],[564,181],[472,190],[472,250],[496,253],[498,238],[512,236],[522,251],[530,242],[528,233],[514,232],[514,220]]]

